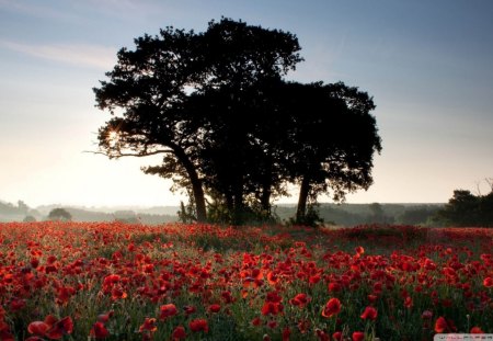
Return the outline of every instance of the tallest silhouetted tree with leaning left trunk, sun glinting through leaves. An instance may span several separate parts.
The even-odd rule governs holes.
[[[204,33],[167,27],[135,45],[118,52],[108,80],[94,88],[98,106],[113,115],[100,128],[100,151],[111,158],[165,154],[159,170],[147,171],[190,185],[197,219],[205,220],[200,154],[216,146],[209,133],[221,128],[200,111],[186,110],[187,101],[218,88],[234,96],[263,79],[280,78],[301,60],[298,41],[223,18]]]

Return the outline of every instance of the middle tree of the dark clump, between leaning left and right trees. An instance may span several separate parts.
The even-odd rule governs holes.
[[[231,91],[218,87],[191,96],[191,110],[210,121],[200,158],[206,187],[232,220],[244,212],[271,213],[272,198],[289,180],[283,145],[293,124],[280,110],[285,82],[268,79]]]

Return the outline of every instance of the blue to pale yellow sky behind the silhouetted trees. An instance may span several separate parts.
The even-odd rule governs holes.
[[[0,201],[90,207],[186,200],[140,171],[159,157],[88,152],[110,118],[92,88],[134,38],[170,25],[203,32],[221,16],[295,34],[305,61],[288,79],[343,81],[374,98],[382,151],[374,184],[347,203],[488,193],[491,0],[0,0]],[[295,189],[276,203],[296,200]]]

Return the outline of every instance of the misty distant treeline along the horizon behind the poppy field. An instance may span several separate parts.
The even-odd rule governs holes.
[[[18,204],[0,201],[1,221],[47,220],[49,212],[61,207],[73,221],[124,221],[133,224],[165,224],[180,220],[180,206],[152,208],[80,208],[64,205],[28,207],[23,201]],[[279,204],[273,213],[280,224],[293,221],[296,204]],[[363,224],[402,224],[421,226],[493,226],[493,191],[486,195],[473,195],[457,190],[444,204],[328,204],[316,207],[318,216],[326,225],[355,226]]]

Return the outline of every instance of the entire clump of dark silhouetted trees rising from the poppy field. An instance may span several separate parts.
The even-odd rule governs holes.
[[[343,200],[371,184],[381,150],[372,99],[342,82],[286,81],[302,60],[294,34],[222,18],[203,33],[170,26],[135,45],[93,89],[112,114],[100,151],[163,154],[144,171],[185,189],[198,220],[207,203],[230,223],[245,212],[268,217],[288,183],[300,186],[302,220],[318,195]]]

